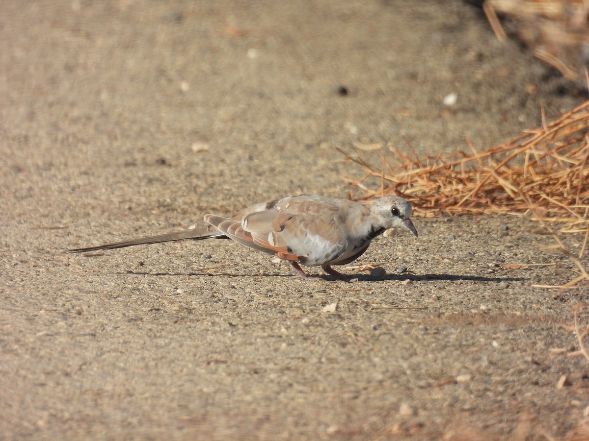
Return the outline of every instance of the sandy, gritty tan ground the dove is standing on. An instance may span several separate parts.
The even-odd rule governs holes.
[[[380,237],[358,260],[388,275],[352,284],[228,240],[63,253],[345,197],[342,175],[362,173],[336,148],[487,148],[584,99],[479,9],[4,2],[0,69],[0,438],[581,431],[589,369],[561,325],[587,286],[531,288],[575,274],[526,218],[415,218],[418,239]]]

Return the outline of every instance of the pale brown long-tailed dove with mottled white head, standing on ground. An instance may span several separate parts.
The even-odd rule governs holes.
[[[417,237],[410,219],[411,212],[409,202],[399,196],[385,196],[371,205],[326,196],[289,196],[244,208],[230,218],[205,215],[204,222],[208,225],[67,252],[82,253],[174,240],[229,238],[287,260],[303,279],[316,278],[306,275],[300,265],[321,266],[335,279],[347,280],[332,265],[346,265],[358,259],[372,239],[385,230],[408,229]]]

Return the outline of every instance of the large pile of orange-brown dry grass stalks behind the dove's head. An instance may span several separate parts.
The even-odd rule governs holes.
[[[359,154],[342,152],[365,172],[359,180],[344,178],[354,186],[349,197],[396,194],[416,216],[531,215],[580,270],[562,287],[589,281],[582,264],[589,240],[589,101],[550,122],[542,116],[542,126],[480,152],[471,142],[469,152],[422,157],[409,144],[408,153],[356,145]],[[584,234],[578,253],[565,248],[559,233]]]

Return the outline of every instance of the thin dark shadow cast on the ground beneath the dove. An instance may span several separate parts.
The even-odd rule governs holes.
[[[151,273],[151,272],[136,272],[136,271],[125,271],[125,272],[114,272],[112,274],[133,274],[138,276],[184,276],[184,277],[196,277],[196,276],[206,276],[206,277],[215,277],[215,276],[223,276],[223,277],[234,277],[234,278],[242,278],[242,277],[252,277],[250,275],[245,274],[230,274],[230,273]],[[292,277],[297,278],[294,274],[264,274],[262,277]],[[325,280],[327,282],[333,282],[334,278],[330,275],[320,274],[314,276],[317,280]],[[348,279],[357,279],[359,282],[405,282],[405,280],[410,280],[411,282],[439,282],[442,280],[447,280],[449,282],[458,282],[459,280],[467,280],[470,282],[494,282],[494,283],[501,283],[501,282],[523,282],[524,278],[517,278],[517,277],[484,277],[484,276],[466,276],[466,275],[456,275],[456,274],[387,274],[385,276],[370,276],[365,274],[359,275],[346,275]]]

